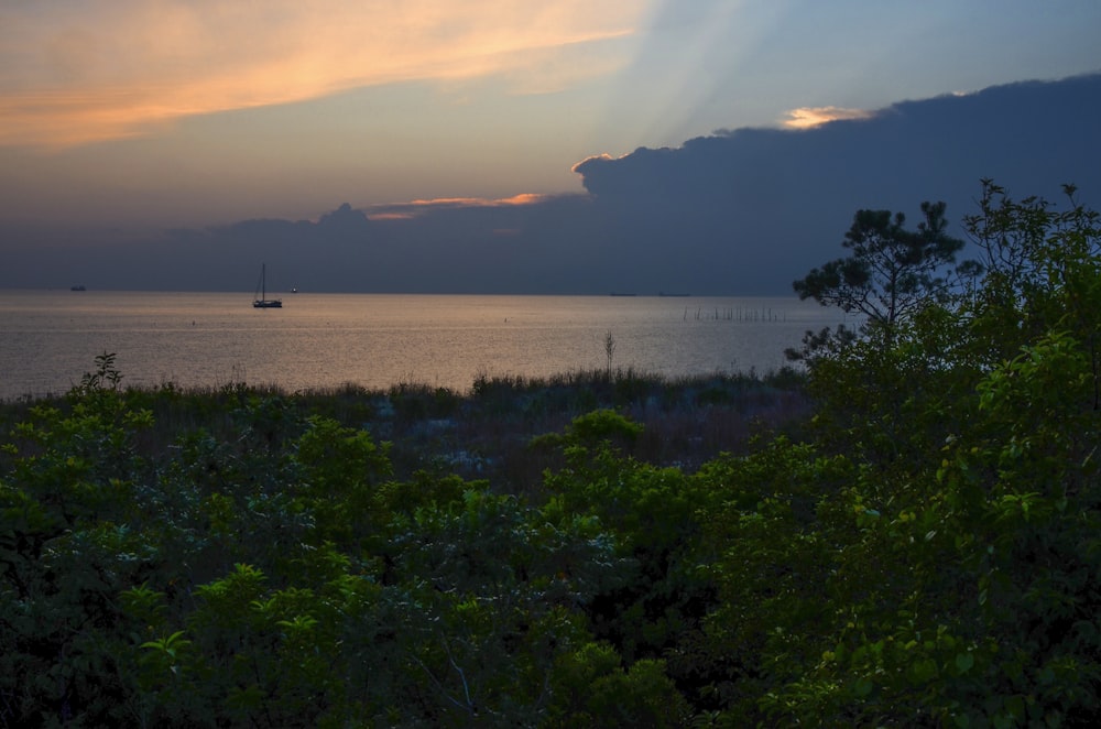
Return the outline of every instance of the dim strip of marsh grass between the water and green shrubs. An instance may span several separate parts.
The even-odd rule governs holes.
[[[528,447],[531,439],[562,432],[593,410],[614,410],[643,425],[632,456],[687,470],[720,453],[743,453],[754,433],[799,427],[808,412],[802,374],[786,369],[764,376],[680,378],[631,368],[549,377],[480,374],[467,392],[414,381],[385,390],[352,383],[295,392],[271,384],[183,389],[164,383],[126,392],[131,407],[153,414],[153,428],[143,432],[138,444],[150,454],[186,434],[232,437],[242,413],[275,403],[286,413],[285,427],[319,415],[391,443],[400,478],[423,470],[453,472],[488,479],[494,488],[515,493],[532,488],[555,466],[548,454]],[[10,432],[43,404],[65,411],[70,400],[62,395],[0,403],[0,427]]]

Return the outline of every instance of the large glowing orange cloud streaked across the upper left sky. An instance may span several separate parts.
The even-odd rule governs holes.
[[[65,148],[182,117],[410,80],[556,90],[625,59],[621,0],[89,0],[0,6],[0,144]]]

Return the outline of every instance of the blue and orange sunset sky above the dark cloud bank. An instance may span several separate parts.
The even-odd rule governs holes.
[[[46,283],[35,247],[345,204],[550,215],[586,160],[1093,74],[1099,30],[1095,0],[3,0],[0,286]]]

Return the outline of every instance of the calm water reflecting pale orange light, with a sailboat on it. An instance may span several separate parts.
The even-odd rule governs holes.
[[[668,377],[784,363],[842,315],[796,298],[0,291],[0,399],[62,393],[117,353],[123,383],[287,390],[352,382],[466,392],[486,376],[607,366]]]

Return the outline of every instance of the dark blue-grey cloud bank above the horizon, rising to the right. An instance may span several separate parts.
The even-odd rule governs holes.
[[[345,205],[316,222],[248,220],[141,246],[13,251],[0,285],[250,290],[266,261],[280,290],[787,294],[839,253],[858,208],[913,219],[922,200],[945,200],[958,224],[975,211],[983,177],[1053,200],[1075,183],[1083,203],[1101,207],[1099,120],[1101,75],[1021,83],[807,131],[739,129],[592,157],[576,167],[587,194],[536,204]]]

